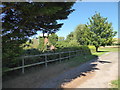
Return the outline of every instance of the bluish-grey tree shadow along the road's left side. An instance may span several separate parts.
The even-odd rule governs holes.
[[[97,56],[94,60],[90,60],[80,66],[60,74],[59,76],[54,77],[53,79],[48,80],[49,82],[44,83],[40,88],[62,88],[62,85],[77,77],[86,76],[86,73],[100,70],[99,68],[96,68],[96,62],[98,62]]]

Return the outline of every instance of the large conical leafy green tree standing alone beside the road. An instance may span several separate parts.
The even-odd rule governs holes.
[[[87,27],[90,30],[91,42],[96,47],[96,51],[100,46],[111,45],[112,39],[117,32],[113,31],[112,23],[107,21],[100,13],[96,13],[89,18],[90,23]]]

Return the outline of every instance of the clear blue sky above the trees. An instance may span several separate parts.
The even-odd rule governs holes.
[[[108,22],[112,22],[115,31],[118,31],[118,3],[117,2],[77,2],[72,7],[75,9],[68,19],[58,21],[64,25],[57,32],[58,36],[66,37],[70,32],[74,31],[77,25],[86,24],[88,18],[99,12],[101,16],[107,17]],[[117,37],[117,36],[116,36]]]

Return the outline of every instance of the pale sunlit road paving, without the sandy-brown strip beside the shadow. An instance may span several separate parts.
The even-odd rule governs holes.
[[[77,88],[110,88],[111,80],[118,79],[118,53],[110,52],[101,56],[92,78],[88,78],[84,83],[78,84]],[[87,78],[87,77],[86,77]]]

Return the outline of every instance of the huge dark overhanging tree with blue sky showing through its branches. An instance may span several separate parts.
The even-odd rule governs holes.
[[[3,59],[10,60],[21,54],[21,44],[37,31],[52,33],[59,30],[74,10],[72,3],[66,2],[3,2],[2,13],[2,52]],[[43,35],[44,36],[44,35]]]

